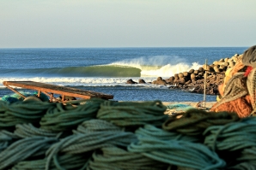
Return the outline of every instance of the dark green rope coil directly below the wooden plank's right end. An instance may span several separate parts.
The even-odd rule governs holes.
[[[76,107],[70,104],[58,103],[56,108],[47,110],[47,113],[40,120],[40,128],[52,132],[62,132],[76,128],[82,121],[94,119],[103,102],[104,100],[95,99]]]

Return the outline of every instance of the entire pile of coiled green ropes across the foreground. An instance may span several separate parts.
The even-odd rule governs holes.
[[[161,101],[0,101],[0,170],[256,168],[256,117]]]

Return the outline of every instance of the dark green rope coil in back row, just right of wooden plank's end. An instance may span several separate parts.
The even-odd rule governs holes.
[[[107,120],[117,126],[143,126],[151,124],[162,126],[168,119],[168,115],[163,114],[167,109],[160,101],[132,103],[106,101],[101,104],[97,118]]]

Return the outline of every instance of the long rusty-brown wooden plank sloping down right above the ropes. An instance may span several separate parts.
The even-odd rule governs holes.
[[[59,85],[50,85],[50,84],[40,83],[35,81],[3,81],[3,85],[7,87],[11,85],[16,87],[21,87],[24,89],[46,91],[53,94],[59,94],[59,95],[70,96],[70,97],[79,97],[84,99],[90,99],[90,98],[113,99],[113,95],[107,95],[101,92],[84,91],[81,89],[64,87]]]

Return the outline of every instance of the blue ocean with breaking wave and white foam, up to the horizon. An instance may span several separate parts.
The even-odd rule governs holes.
[[[116,101],[200,102],[203,94],[149,82],[198,69],[248,47],[0,49],[0,97],[13,92],[3,81],[32,80],[113,95]],[[147,84],[126,84],[144,79]],[[18,89],[18,91],[26,91]],[[206,102],[216,96],[206,96]]]

